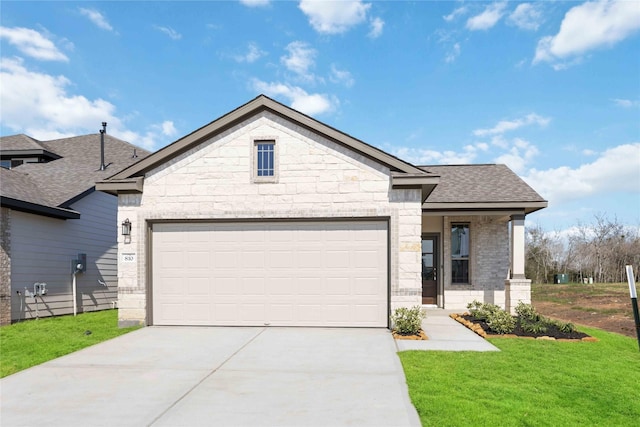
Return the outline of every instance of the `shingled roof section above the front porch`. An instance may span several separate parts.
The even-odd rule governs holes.
[[[420,166],[440,175],[424,209],[542,209],[547,201],[505,165]]]

